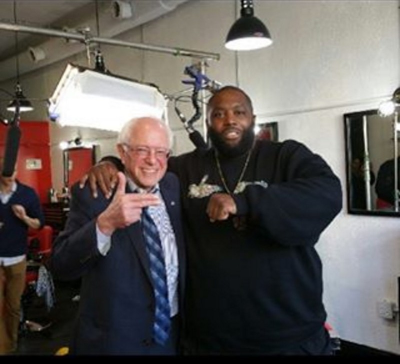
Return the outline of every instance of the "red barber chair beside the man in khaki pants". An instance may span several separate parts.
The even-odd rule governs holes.
[[[47,311],[51,309],[54,302],[54,287],[50,273],[46,269],[46,260],[51,253],[52,240],[53,229],[51,226],[44,225],[40,230],[29,230],[28,232],[25,290],[21,297],[20,334],[41,332],[51,325],[51,323],[41,325],[28,320],[28,312],[39,296],[44,295]]]

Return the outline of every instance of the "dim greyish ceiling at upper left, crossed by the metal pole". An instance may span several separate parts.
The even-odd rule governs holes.
[[[30,28],[48,28],[76,32],[89,27],[90,35],[113,38],[169,11],[187,0],[0,0],[0,23],[14,21]],[[130,18],[115,17],[115,3],[131,6]],[[97,29],[98,28],[98,29]],[[17,42],[15,35],[17,34]],[[59,37],[15,32],[0,28],[0,82],[15,77],[16,44],[19,74],[51,64],[82,50],[82,43],[65,44]],[[40,46],[46,58],[40,62],[29,59],[28,47]]]

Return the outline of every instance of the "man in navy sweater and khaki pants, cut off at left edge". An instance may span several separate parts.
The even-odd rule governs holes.
[[[0,157],[0,171],[3,159]],[[36,192],[0,175],[0,355],[16,350],[20,301],[25,287],[28,228],[44,225]]]

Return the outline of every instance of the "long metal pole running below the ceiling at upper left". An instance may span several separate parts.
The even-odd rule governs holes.
[[[63,30],[46,29],[46,28],[26,26],[14,23],[5,23],[5,22],[0,22],[0,29],[78,40],[86,45],[91,43],[101,43],[101,44],[116,45],[127,48],[149,50],[153,52],[169,53],[175,56],[200,58],[202,60],[219,60],[220,58],[219,53],[203,52],[194,49],[177,48],[177,47],[171,48],[171,47],[164,47],[160,45],[151,45],[144,43],[131,43],[118,39],[95,37],[91,36],[90,33],[84,33],[84,34],[71,33]]]

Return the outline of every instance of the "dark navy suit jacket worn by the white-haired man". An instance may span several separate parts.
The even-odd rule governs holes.
[[[176,237],[181,314],[185,256],[179,182],[174,174],[166,173],[159,186]],[[170,349],[151,343],[155,302],[140,222],[116,230],[106,256],[97,250],[95,218],[110,200],[101,193],[94,199],[87,185],[79,189],[75,184],[65,230],[55,240],[48,262],[55,279],[82,278],[70,353],[168,354]]]

